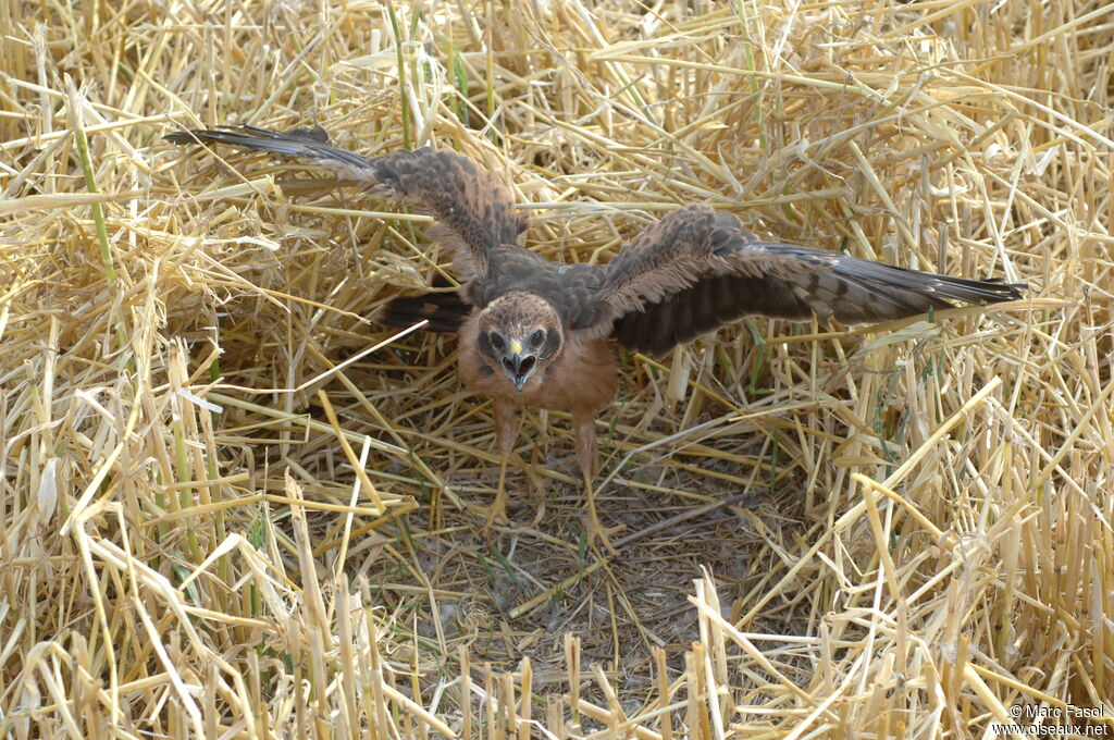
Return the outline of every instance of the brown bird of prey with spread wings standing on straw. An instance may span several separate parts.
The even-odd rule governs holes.
[[[949,278],[763,241],[730,213],[681,207],[623,245],[608,264],[560,264],[518,245],[527,220],[471,158],[421,148],[364,157],[320,127],[277,132],[221,126],[177,132],[174,144],[228,144],[307,159],[372,195],[431,214],[429,235],[453,253],[458,293],[398,298],[383,323],[430,321],[459,335],[459,373],[491,398],[501,452],[490,516],[506,520],[504,478],[524,407],[571,411],[589,534],[607,544],[592,479],[595,419],[618,388],[614,345],[662,356],[746,314],[843,324],[1022,298],[1024,284]]]

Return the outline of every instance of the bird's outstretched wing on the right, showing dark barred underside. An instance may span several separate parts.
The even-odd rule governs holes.
[[[932,273],[763,242],[730,213],[676,211],[627,243],[595,293],[624,347],[661,356],[745,314],[856,324],[1022,298],[1023,284]]]

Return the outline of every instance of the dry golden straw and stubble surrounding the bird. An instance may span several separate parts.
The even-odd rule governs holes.
[[[1110,702],[1111,6],[389,2],[0,1],[0,734],[961,738]],[[703,202],[1029,300],[626,357],[605,558],[564,415],[485,528],[453,342],[355,358],[446,274],[428,220],[159,139],[225,121],[465,152],[553,259]]]

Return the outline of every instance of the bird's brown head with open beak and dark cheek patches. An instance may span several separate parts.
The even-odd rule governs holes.
[[[479,317],[479,351],[483,363],[507,376],[519,393],[560,354],[560,317],[545,299],[514,292],[488,304]]]

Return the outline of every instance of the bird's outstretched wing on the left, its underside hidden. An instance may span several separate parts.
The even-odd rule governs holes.
[[[231,144],[310,159],[370,187],[381,197],[416,206],[438,220],[430,236],[456,252],[453,266],[465,279],[488,271],[488,253],[514,244],[526,230],[510,193],[469,157],[429,147],[364,157],[335,147],[320,127],[275,132],[255,126],[219,126],[175,132],[172,144]]]

